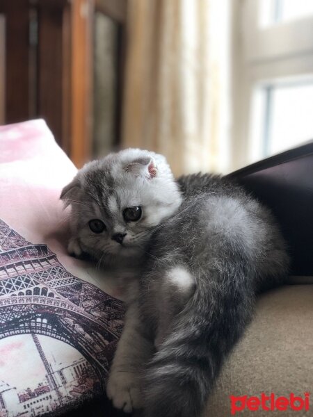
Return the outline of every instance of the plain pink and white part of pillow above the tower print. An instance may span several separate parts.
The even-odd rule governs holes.
[[[73,275],[120,297],[114,278],[68,256],[68,211],[59,199],[77,172],[44,120],[0,126],[0,219],[32,243],[45,243]]]

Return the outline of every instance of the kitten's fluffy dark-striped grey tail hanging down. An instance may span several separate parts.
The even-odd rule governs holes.
[[[148,366],[145,417],[200,416],[225,355],[250,320],[254,291],[243,290],[241,285],[248,286],[243,275],[211,282],[198,281]]]

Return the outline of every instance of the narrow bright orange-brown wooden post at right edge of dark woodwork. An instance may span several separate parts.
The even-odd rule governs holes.
[[[72,140],[70,158],[77,167],[91,156],[93,93],[93,1],[72,3]]]

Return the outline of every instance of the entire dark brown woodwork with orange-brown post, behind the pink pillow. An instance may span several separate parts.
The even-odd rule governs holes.
[[[18,7],[1,0],[0,13],[6,17],[5,122],[44,117],[80,167],[91,154],[93,0],[19,0]],[[38,45],[29,44],[30,19],[38,22]]]

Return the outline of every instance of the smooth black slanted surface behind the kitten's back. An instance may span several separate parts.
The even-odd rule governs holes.
[[[291,254],[291,275],[313,276],[313,142],[233,172],[270,207]]]

